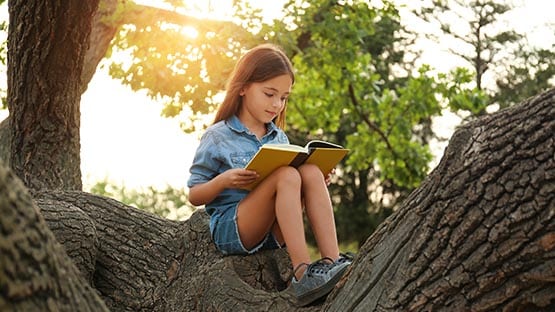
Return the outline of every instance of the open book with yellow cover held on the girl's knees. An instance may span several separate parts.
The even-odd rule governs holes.
[[[317,165],[324,176],[347,155],[348,149],[326,141],[313,140],[304,147],[294,144],[264,144],[245,167],[260,177],[246,189],[254,189],[270,173],[282,166],[299,167],[304,163]]]

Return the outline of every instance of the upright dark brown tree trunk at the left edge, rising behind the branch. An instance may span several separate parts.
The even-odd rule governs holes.
[[[31,189],[81,189],[81,72],[97,6],[9,1],[9,162]]]

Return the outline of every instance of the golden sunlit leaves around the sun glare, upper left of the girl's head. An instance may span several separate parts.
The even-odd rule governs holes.
[[[112,17],[123,26],[109,53],[110,75],[163,102],[163,116],[185,116],[184,131],[202,129],[237,58],[256,42],[247,29],[255,28],[260,18],[244,2],[235,10],[237,22],[216,21],[121,2]],[[127,57],[118,60],[118,55]]]

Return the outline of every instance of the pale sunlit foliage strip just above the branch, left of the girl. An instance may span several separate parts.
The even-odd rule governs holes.
[[[99,181],[89,191],[105,197],[116,199],[168,219],[187,219],[195,208],[189,204],[187,193],[182,189],[167,186],[165,189],[147,187],[136,190],[118,186],[106,180]]]

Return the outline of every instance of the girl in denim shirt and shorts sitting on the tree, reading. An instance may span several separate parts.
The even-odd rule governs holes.
[[[276,46],[263,44],[237,63],[214,124],[201,138],[190,169],[189,201],[205,205],[210,233],[226,255],[287,246],[294,268],[291,287],[298,304],[329,293],[350,265],[339,253],[327,190],[329,177],[315,165],[281,167],[254,190],[258,178],[243,169],[265,143],[289,143],[283,128],[295,81],[291,62]],[[311,263],[303,206],[322,259]]]

